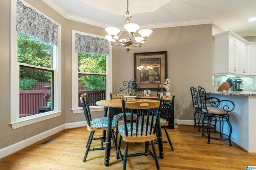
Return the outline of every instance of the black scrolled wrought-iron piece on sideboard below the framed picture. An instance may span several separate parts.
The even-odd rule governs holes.
[[[116,95],[118,97],[121,97],[120,95],[118,95],[120,92],[128,89],[128,94],[131,93],[131,96],[137,96],[138,98],[141,98],[143,95],[141,92],[139,92],[140,88],[138,87],[138,81],[135,79],[128,81],[124,81],[123,82],[124,86],[127,86],[126,88],[118,88],[119,92],[116,93]]]

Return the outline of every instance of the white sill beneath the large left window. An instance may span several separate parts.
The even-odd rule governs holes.
[[[40,122],[40,121],[51,119],[53,117],[60,116],[61,112],[62,111],[57,111],[57,112],[49,113],[49,114],[46,114],[46,115],[41,115],[41,116],[37,116],[37,117],[33,117],[33,118],[28,118],[28,119],[25,119],[25,120],[20,120],[20,121],[17,121],[17,122],[10,123],[10,125],[12,125],[12,129],[17,129],[17,128],[24,127],[24,126],[27,126],[27,125],[31,125],[33,123],[37,123],[37,122]]]

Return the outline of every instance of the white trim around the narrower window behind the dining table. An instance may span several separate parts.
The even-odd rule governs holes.
[[[89,33],[84,33],[76,30],[72,30],[72,112],[75,113],[84,113],[82,107],[78,107],[78,66],[77,66],[77,53],[75,52],[75,41],[76,33],[81,35],[90,35],[93,37],[105,38],[99,35],[93,35]],[[84,72],[83,72],[84,73]],[[97,73],[88,73],[88,74],[97,74]],[[112,92],[112,46],[109,45],[109,56],[106,57],[106,99],[110,99],[109,92]],[[104,111],[102,106],[90,106],[90,111]]]

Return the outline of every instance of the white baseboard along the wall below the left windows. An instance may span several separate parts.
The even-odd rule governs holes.
[[[32,145],[44,138],[47,138],[51,135],[54,135],[55,133],[58,133],[64,129],[68,128],[74,128],[74,127],[81,127],[81,126],[86,126],[87,123],[86,121],[80,121],[80,122],[74,122],[74,123],[66,123],[64,125],[60,125],[58,127],[55,127],[53,129],[50,129],[48,131],[45,131],[43,133],[40,133],[38,135],[35,135],[33,137],[30,137],[28,139],[25,139],[23,141],[20,141],[18,143],[15,143],[13,145],[10,145],[8,147],[5,147],[3,149],[0,149],[0,158],[3,158],[4,156],[7,156],[9,154],[12,154],[18,150],[21,150],[25,147],[28,147],[29,145]]]

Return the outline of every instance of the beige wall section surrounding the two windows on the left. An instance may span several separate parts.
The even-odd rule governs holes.
[[[0,5],[0,149],[28,139],[64,123],[85,121],[83,113],[71,111],[71,33],[72,29],[105,35],[103,28],[67,20],[46,5],[42,0],[25,0],[39,11],[62,26],[62,113],[59,117],[34,123],[12,130],[10,123],[10,0],[2,0]],[[100,113],[95,113],[98,117]]]

